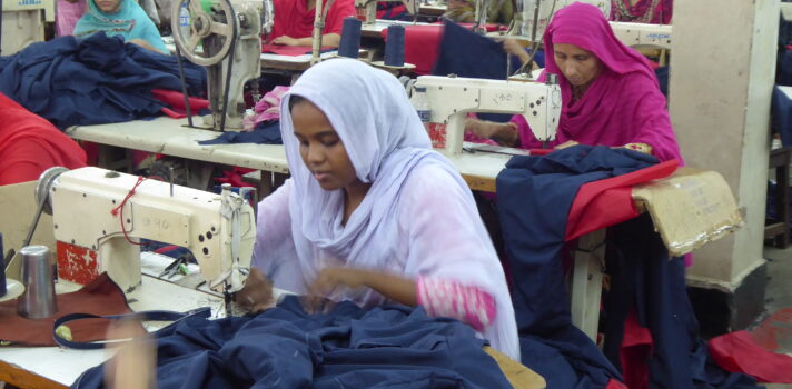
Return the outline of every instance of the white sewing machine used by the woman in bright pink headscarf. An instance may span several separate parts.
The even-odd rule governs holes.
[[[468,112],[522,114],[541,141],[555,139],[561,117],[561,88],[554,74],[547,82],[486,80],[459,77],[418,77],[410,98],[426,89],[430,109],[429,138],[436,149],[462,153]]]

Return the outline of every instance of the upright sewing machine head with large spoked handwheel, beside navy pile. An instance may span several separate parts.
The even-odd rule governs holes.
[[[211,116],[204,117],[216,130],[242,128],[245,83],[261,73],[261,31],[273,23],[271,0],[200,0],[172,3],[171,28],[178,52],[207,67]]]

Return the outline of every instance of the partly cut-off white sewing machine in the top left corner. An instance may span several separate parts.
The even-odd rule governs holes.
[[[6,0],[0,20],[0,56],[44,41],[44,21],[55,22],[55,0]]]

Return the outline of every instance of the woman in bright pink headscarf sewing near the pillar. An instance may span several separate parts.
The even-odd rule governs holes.
[[[654,71],[641,53],[616,39],[600,9],[576,2],[558,11],[545,31],[544,47],[553,60],[539,80],[548,72],[561,74],[564,103],[550,146],[625,147],[660,161],[682,161]],[[522,116],[508,123],[469,120],[465,127],[501,144],[542,147]]]

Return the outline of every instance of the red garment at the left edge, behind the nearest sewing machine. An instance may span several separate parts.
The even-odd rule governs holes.
[[[56,166],[86,166],[86,152],[46,119],[0,93],[0,186],[33,181]]]

